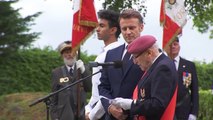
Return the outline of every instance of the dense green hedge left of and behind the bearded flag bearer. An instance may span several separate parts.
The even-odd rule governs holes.
[[[95,56],[81,53],[87,63]],[[0,95],[26,91],[50,91],[52,69],[63,65],[58,52],[46,47],[19,50],[4,61],[0,61]]]

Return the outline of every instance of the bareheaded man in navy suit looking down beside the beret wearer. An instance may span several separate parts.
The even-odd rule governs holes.
[[[126,43],[109,50],[105,62],[123,60],[123,67],[105,68],[100,78],[101,83],[98,86],[101,102],[108,120],[127,118],[120,107],[109,103],[109,99],[116,97],[131,98],[133,90],[142,75],[140,68],[133,64],[132,57],[127,53],[126,48],[129,43],[140,36],[143,30],[143,18],[138,11],[128,9],[120,14],[119,24]]]

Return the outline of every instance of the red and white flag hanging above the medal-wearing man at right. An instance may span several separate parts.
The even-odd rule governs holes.
[[[181,34],[187,22],[184,0],[162,0],[160,8],[160,24],[163,26],[163,46],[165,49],[174,38]]]

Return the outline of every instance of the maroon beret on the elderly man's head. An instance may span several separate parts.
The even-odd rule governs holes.
[[[151,35],[144,35],[136,38],[128,45],[129,53],[143,53],[150,48],[157,40]]]

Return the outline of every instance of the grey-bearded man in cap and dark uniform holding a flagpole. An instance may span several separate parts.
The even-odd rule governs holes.
[[[90,74],[81,60],[76,60],[76,55],[71,54],[70,41],[61,43],[58,47],[64,66],[52,71],[52,91],[57,91],[76,80]],[[91,80],[85,80],[72,86],[51,99],[52,120],[84,120],[84,106],[86,105],[86,92],[91,91]]]

